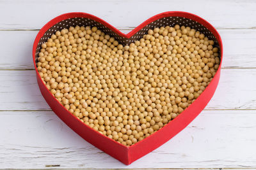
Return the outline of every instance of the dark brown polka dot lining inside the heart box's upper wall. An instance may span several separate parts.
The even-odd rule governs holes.
[[[40,39],[37,47],[36,47],[36,58],[38,56],[38,53],[40,52],[41,45],[47,41],[47,39],[51,38],[52,34],[55,34],[56,31],[60,31],[61,29],[68,29],[69,27],[76,25],[79,26],[96,26],[100,31],[103,31],[105,34],[108,34],[109,36],[114,37],[119,43],[122,45],[129,45],[130,43],[139,40],[143,37],[144,34],[147,34],[148,29],[154,29],[155,27],[165,27],[165,26],[171,26],[179,24],[191,27],[195,29],[196,31],[200,31],[201,33],[204,33],[205,36],[207,36],[209,39],[212,39],[215,43],[215,46],[220,48],[218,45],[217,39],[214,37],[211,31],[209,31],[207,28],[205,28],[203,25],[199,24],[198,22],[191,20],[189,18],[184,17],[164,17],[160,18],[158,20],[155,20],[154,22],[151,22],[150,24],[146,25],[138,31],[136,34],[134,34],[131,38],[124,38],[116,34],[114,31],[109,29],[103,24],[100,24],[99,22],[89,19],[89,18],[68,18],[66,20],[62,20],[58,24],[53,25],[48,31],[45,32],[44,36]]]

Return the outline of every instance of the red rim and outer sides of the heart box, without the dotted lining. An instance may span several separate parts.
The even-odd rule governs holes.
[[[186,110],[184,110],[177,118],[169,122],[159,131],[150,135],[148,138],[145,138],[142,141],[132,146],[121,145],[120,143],[114,141],[113,139],[109,139],[108,137],[100,134],[97,131],[94,131],[92,128],[83,124],[83,122],[81,122],[78,118],[72,115],[72,113],[66,110],[66,108],[64,108],[61,105],[61,103],[59,103],[59,101],[47,89],[47,87],[45,86],[44,82],[40,78],[40,75],[36,69],[36,62],[35,62],[36,46],[38,45],[40,38],[44,36],[45,31],[50,29],[52,25],[58,22],[61,22],[61,20],[65,20],[67,18],[75,18],[75,17],[90,18],[92,20],[100,22],[106,27],[109,27],[109,29],[111,29],[112,31],[116,32],[116,34],[123,36],[125,38],[130,38],[136,32],[140,31],[140,29],[145,27],[145,25],[150,24],[151,22],[159,18],[184,17],[184,18],[189,18],[191,20],[195,20],[196,22],[204,25],[207,29],[209,29],[209,31],[211,31],[212,34],[218,40],[218,43],[220,45],[220,54],[221,54],[220,67],[218,68],[218,71],[214,75],[214,78],[212,78],[211,83],[209,83],[209,85],[206,87],[204,92],[202,92],[202,94],[200,94],[200,96],[193,102],[193,104],[191,104],[188,108],[186,108]],[[44,96],[45,101],[47,101],[47,103],[52,108],[54,113],[56,113],[56,115],[58,115],[58,117],[60,117],[61,120],[65,122],[65,124],[67,124],[73,131],[79,134],[79,136],[81,136],[83,139],[85,139],[86,141],[96,146],[103,152],[108,153],[115,159],[118,159],[120,160],[120,162],[123,162],[124,164],[127,164],[127,165],[131,164],[137,159],[140,159],[140,157],[143,157],[147,153],[152,152],[152,150],[155,150],[159,146],[166,143],[166,141],[173,138],[173,136],[175,136],[180,131],[182,131],[182,129],[184,129],[190,122],[194,120],[194,118],[197,115],[199,115],[199,113],[205,108],[207,103],[209,103],[211,97],[213,96],[216,90],[216,87],[220,79],[220,69],[221,69],[222,58],[223,58],[223,46],[222,46],[220,34],[218,34],[216,29],[214,29],[214,27],[211,24],[209,24],[209,22],[205,21],[203,18],[200,18],[191,13],[182,12],[182,11],[167,11],[167,12],[155,15],[154,17],[151,17],[145,22],[143,22],[142,24],[140,24],[138,27],[136,27],[134,30],[132,30],[128,34],[124,34],[120,32],[118,29],[108,24],[104,20],[98,17],[95,17],[93,15],[90,15],[88,13],[80,13],[80,12],[65,13],[63,15],[60,15],[52,19],[50,22],[45,24],[44,27],[42,27],[42,29],[38,32],[33,45],[33,62],[36,69],[36,79],[38,82],[38,87],[40,88],[40,91],[42,93],[42,96]]]

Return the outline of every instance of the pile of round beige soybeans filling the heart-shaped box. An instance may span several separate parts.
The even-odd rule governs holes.
[[[175,25],[123,46],[97,27],[69,27],[42,44],[46,87],[81,122],[131,146],[195,101],[216,73],[214,41]]]

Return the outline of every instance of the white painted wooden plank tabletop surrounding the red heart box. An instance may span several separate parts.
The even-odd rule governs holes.
[[[188,11],[220,32],[220,83],[204,111],[173,139],[129,166],[90,145],[51,111],[36,84],[38,30],[70,11],[129,32],[157,13]],[[256,168],[256,1],[0,1],[0,168]]]

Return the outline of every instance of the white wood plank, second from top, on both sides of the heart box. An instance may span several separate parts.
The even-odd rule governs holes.
[[[256,67],[256,29],[218,31],[223,39],[223,67]],[[37,32],[0,31],[0,39],[4,39],[0,41],[0,69],[33,69],[32,46]]]

